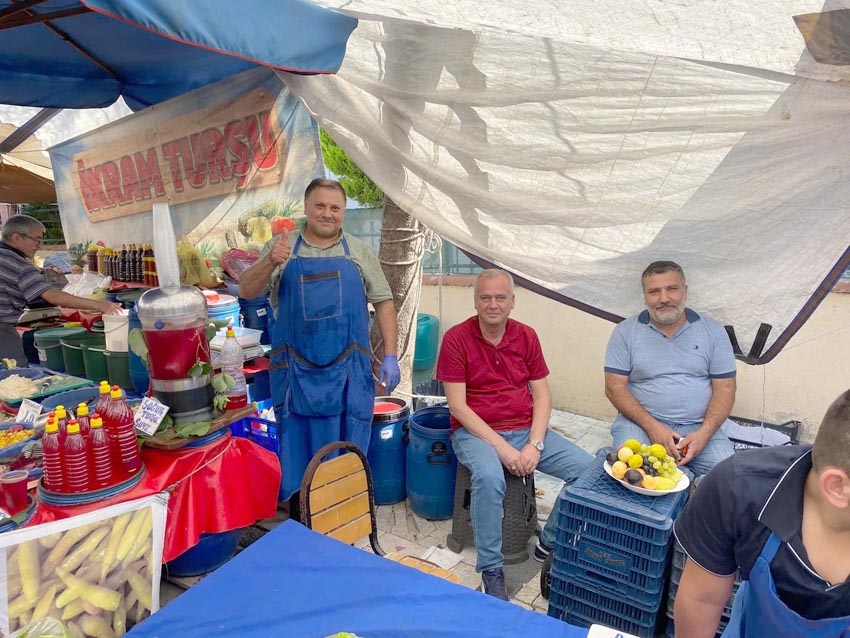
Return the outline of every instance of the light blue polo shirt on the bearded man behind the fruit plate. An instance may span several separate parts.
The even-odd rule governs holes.
[[[666,337],[644,310],[614,328],[605,350],[605,372],[629,377],[629,392],[668,425],[701,424],[711,401],[711,380],[736,374],[723,326],[690,308],[685,319],[676,334]]]

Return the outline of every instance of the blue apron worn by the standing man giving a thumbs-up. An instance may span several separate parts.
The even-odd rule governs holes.
[[[300,257],[299,235],[280,278],[269,364],[281,424],[279,500],[300,488],[322,446],[351,441],[364,454],[369,447],[375,385],[366,291],[341,241],[344,256]]]

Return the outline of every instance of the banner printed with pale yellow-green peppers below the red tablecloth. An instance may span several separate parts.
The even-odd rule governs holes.
[[[122,636],[159,609],[167,494],[0,537],[0,633]],[[24,631],[22,631],[24,630]]]

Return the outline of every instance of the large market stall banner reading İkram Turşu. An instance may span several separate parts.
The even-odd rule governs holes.
[[[65,239],[149,242],[151,209],[169,204],[177,237],[210,261],[259,248],[301,213],[323,174],[318,130],[267,69],[248,71],[50,149]]]

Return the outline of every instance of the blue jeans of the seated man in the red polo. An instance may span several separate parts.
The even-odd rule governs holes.
[[[505,441],[517,450],[528,443],[531,428],[497,432]],[[537,469],[544,474],[557,477],[572,483],[593,460],[593,457],[552,431],[546,432],[544,439],[546,449],[540,457]],[[457,460],[469,468],[472,474],[472,498],[470,515],[472,531],[475,534],[475,547],[478,550],[478,560],[475,570],[501,567],[504,564],[502,556],[502,515],[505,498],[505,474],[496,448],[470,434],[464,428],[455,430],[452,434],[452,447]],[[541,542],[547,547],[555,545],[555,523],[557,508],[552,511],[546,527],[540,535]]]

